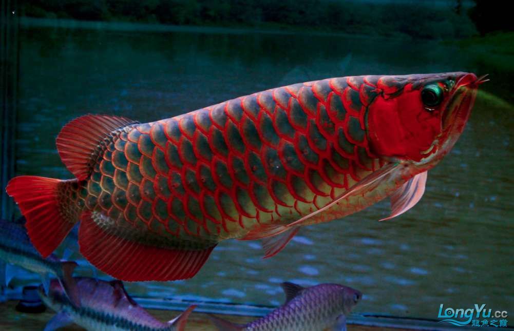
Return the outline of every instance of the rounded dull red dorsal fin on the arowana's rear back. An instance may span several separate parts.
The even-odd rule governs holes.
[[[64,125],[57,136],[57,150],[66,168],[79,180],[89,176],[101,142],[113,131],[136,124],[128,118],[84,115]]]

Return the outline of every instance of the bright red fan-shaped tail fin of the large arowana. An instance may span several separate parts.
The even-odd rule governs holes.
[[[66,219],[58,191],[61,183],[75,183],[38,176],[19,176],[11,179],[6,187],[27,219],[25,227],[32,245],[46,258],[64,240],[77,220]]]

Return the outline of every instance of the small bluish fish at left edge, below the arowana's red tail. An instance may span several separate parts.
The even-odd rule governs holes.
[[[78,304],[78,294],[72,273],[77,267],[73,261],[62,261],[50,254],[42,258],[41,254],[30,243],[23,219],[10,222],[0,219],[0,278],[3,285],[9,285],[16,275],[14,266],[38,273],[45,292],[48,293],[50,275],[57,277],[71,302]]]

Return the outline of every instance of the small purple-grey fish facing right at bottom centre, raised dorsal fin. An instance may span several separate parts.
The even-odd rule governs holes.
[[[330,328],[346,330],[346,316],[361,300],[362,293],[338,284],[302,287],[282,283],[286,302],[268,315],[245,325],[233,324],[210,315],[219,330],[317,331]]]

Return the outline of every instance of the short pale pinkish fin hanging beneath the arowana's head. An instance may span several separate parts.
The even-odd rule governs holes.
[[[391,195],[391,215],[380,219],[387,220],[401,215],[414,207],[425,193],[427,171],[417,174],[405,182]]]

